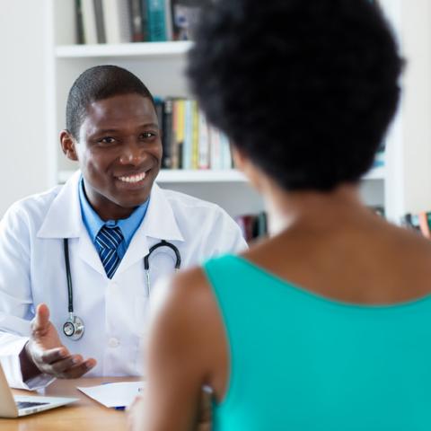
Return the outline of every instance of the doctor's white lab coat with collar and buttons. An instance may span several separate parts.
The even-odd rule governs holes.
[[[0,225],[0,361],[13,387],[49,382],[41,376],[23,383],[19,365],[36,304],[48,304],[50,320],[72,353],[97,359],[88,376],[139,375],[149,298],[143,259],[149,248],[162,239],[172,242],[181,268],[246,248],[239,227],[220,207],[154,184],[144,221],[109,279],[82,221],[79,179],[76,172],[64,186],[15,203]],[[64,238],[69,238],[75,314],[85,325],[78,341],[62,331],[68,317]],[[166,248],[154,251],[152,291],[173,266]]]

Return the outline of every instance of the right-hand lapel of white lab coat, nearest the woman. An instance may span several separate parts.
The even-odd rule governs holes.
[[[136,261],[143,260],[149,248],[161,240],[184,241],[184,238],[163,189],[154,183],[144,220],[137,228],[114,277],[134,265]]]

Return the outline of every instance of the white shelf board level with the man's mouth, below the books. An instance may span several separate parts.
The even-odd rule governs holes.
[[[58,182],[64,183],[75,171],[58,172]],[[186,170],[162,170],[156,179],[157,182],[245,182],[241,172],[229,169],[225,171],[186,171]]]

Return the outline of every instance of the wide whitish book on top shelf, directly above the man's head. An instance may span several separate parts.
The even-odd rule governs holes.
[[[107,43],[127,43],[132,40],[127,0],[102,0],[103,22]]]

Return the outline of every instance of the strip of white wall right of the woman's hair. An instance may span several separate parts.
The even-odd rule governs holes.
[[[404,0],[401,14],[404,207],[417,213],[431,210],[431,2]]]

